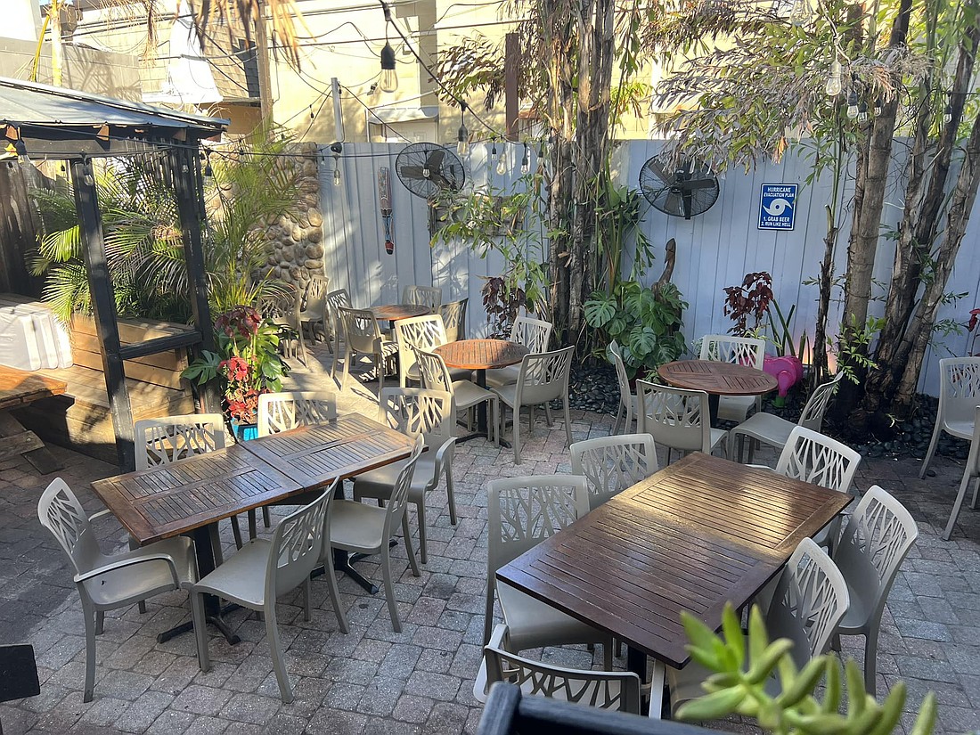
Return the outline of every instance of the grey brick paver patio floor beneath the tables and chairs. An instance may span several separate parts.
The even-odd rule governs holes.
[[[329,385],[321,371],[294,373],[298,385]],[[348,390],[341,411],[373,411],[360,384]],[[540,414],[540,412],[539,412]],[[53,539],[37,521],[36,503],[50,476],[26,462],[0,463],[0,643],[34,646],[41,694],[0,706],[4,732],[58,733],[471,733],[481,708],[472,697],[480,658],[486,585],[486,482],[493,477],[568,471],[564,427],[548,429],[540,417],[515,466],[509,450],[485,440],[461,444],[454,471],[459,523],[449,522],[444,488],[430,493],[428,564],[421,576],[407,569],[397,547],[396,596],[403,632],[392,632],[382,595],[368,596],[340,580],[351,632],[337,629],[325,585],[314,582],[313,619],[303,620],[299,593],[280,599],[282,642],[296,700],[282,705],[272,673],[265,629],[254,614],[239,611],[229,621],[241,636],[234,647],[211,639],[213,668],[198,667],[191,635],[166,644],[156,634],[188,617],[187,597],[172,593],[147,604],[107,613],[97,645],[95,698],[83,704],[85,640],[72,576]],[[526,420],[526,418],[524,419]],[[574,440],[610,433],[613,418],[572,412]],[[54,448],[61,473],[91,513],[101,510],[89,483],[116,467]],[[661,458],[663,461],[663,457]],[[771,464],[762,454],[760,462]],[[856,485],[880,484],[918,521],[920,537],[892,591],[883,619],[878,655],[879,695],[905,679],[908,709],[928,689],[940,702],[938,732],[980,725],[980,513],[963,511],[951,542],[939,538],[949,515],[962,467],[945,458],[936,476],[917,479],[918,461],[865,460]],[[53,476],[53,475],[52,475]],[[411,507],[410,507],[411,508]],[[276,510],[281,515],[281,512]],[[114,518],[100,521],[103,548],[125,548]],[[415,527],[415,516],[412,515]],[[266,531],[268,533],[268,531]],[[222,537],[233,551],[230,531]],[[371,560],[359,568],[380,578]],[[845,639],[859,659],[862,640]],[[589,666],[584,647],[544,652],[553,662]],[[597,652],[596,662],[601,661]],[[624,665],[622,659],[617,664]],[[910,715],[905,726],[910,726]],[[739,722],[726,729],[748,730]]]

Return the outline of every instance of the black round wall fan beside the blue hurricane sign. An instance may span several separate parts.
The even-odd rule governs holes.
[[[662,153],[640,170],[640,190],[664,215],[690,220],[718,200],[718,178],[697,159]]]

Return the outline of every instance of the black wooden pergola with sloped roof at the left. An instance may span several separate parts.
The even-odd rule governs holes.
[[[0,135],[6,137],[0,142],[34,160],[66,161],[71,167],[116,449],[120,466],[131,469],[132,410],[123,361],[181,347],[215,349],[202,246],[200,149],[201,140],[220,135],[228,121],[5,77],[0,77],[0,111]],[[163,154],[153,157],[159,165],[157,173],[172,185],[176,196],[194,329],[122,346],[92,159],[147,154]]]

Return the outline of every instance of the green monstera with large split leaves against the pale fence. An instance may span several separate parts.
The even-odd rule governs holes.
[[[618,282],[612,293],[593,293],[585,302],[585,320],[599,333],[597,342],[619,343],[632,378],[646,376],[684,354],[680,329],[685,309],[687,303],[673,283],[653,289],[629,280]]]

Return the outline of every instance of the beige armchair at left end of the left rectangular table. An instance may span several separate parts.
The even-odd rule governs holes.
[[[86,516],[72,489],[56,477],[41,494],[37,517],[61,546],[74,572],[85,620],[85,690],[82,702],[92,701],[95,688],[95,636],[102,633],[107,610],[125,608],[148,597],[177,589],[190,589],[197,581],[194,542],[174,536],[155,544],[111,557],[99,549],[92,520]]]

